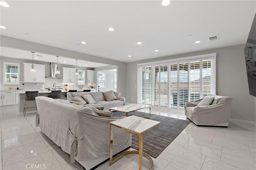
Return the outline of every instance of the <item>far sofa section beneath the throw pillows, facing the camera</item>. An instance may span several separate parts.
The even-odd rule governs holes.
[[[118,107],[125,104],[125,98],[119,97],[117,100],[106,101],[106,98],[102,91],[97,92],[68,92],[67,100],[72,101],[73,97],[83,96],[83,95],[91,95],[93,99],[96,101],[94,104],[86,104],[92,107],[104,107],[105,111],[108,111],[111,107]]]

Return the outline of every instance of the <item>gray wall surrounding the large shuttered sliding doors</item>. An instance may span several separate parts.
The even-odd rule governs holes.
[[[255,120],[255,101],[249,95],[244,45],[235,45],[193,53],[161,57],[127,63],[127,96],[126,101],[137,103],[137,64],[161,61],[208,53],[217,53],[216,57],[216,94],[233,97],[231,118],[246,121]]]

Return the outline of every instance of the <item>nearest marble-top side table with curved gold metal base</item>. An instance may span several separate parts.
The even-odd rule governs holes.
[[[116,161],[124,157],[128,154],[139,154],[139,170],[142,170],[142,156],[145,156],[150,162],[151,162],[151,168],[150,170],[153,170],[154,162],[152,158],[142,152],[142,138],[143,134],[147,132],[148,130],[157,127],[160,125],[160,122],[153,121],[150,119],[144,119],[142,117],[137,116],[129,116],[123,119],[118,119],[116,121],[110,122],[110,139],[109,139],[109,166],[114,164]],[[124,130],[127,130],[129,132],[135,133],[139,135],[139,150],[129,150],[126,152],[123,152],[122,154],[119,154],[115,158],[113,158],[113,127],[122,128]]]

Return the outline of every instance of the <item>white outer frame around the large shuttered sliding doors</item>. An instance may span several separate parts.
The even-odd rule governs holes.
[[[149,67],[149,66],[155,66],[155,65],[161,65],[161,64],[166,64],[168,63],[168,74],[169,74],[169,65],[170,63],[180,63],[183,61],[187,61],[188,63],[190,61],[195,61],[195,60],[200,60],[200,63],[202,62],[202,60],[204,59],[213,59],[213,68],[214,68],[214,87],[212,88],[212,94],[216,95],[216,53],[210,53],[210,54],[204,54],[204,55],[196,55],[196,56],[190,56],[190,57],[182,57],[182,58],[176,58],[176,59],[169,59],[169,60],[163,60],[163,61],[154,61],[154,62],[148,62],[148,63],[139,63],[137,64],[137,77],[138,77],[138,81],[137,81],[137,101],[140,101],[139,97],[140,97],[140,68],[141,67]],[[202,74],[202,65],[200,65],[200,74]],[[179,76],[179,75],[178,75]],[[169,77],[169,75],[168,75]],[[189,80],[189,77],[188,77]],[[200,89],[202,89],[202,85],[200,85]],[[170,90],[170,89],[169,89]],[[168,93],[169,94],[169,93]],[[202,95],[202,93],[200,93],[200,95]],[[200,96],[202,97],[202,96]],[[168,104],[169,105],[169,104]],[[178,107],[178,106],[177,106]],[[167,107],[168,108],[168,107]],[[161,107],[159,107],[159,109],[162,109]],[[170,108],[168,108],[168,110],[171,110]],[[178,110],[178,109],[177,109]]]

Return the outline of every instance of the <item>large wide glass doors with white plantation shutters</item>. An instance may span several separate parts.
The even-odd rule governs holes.
[[[216,54],[138,65],[138,103],[183,111],[188,101],[215,94]]]

